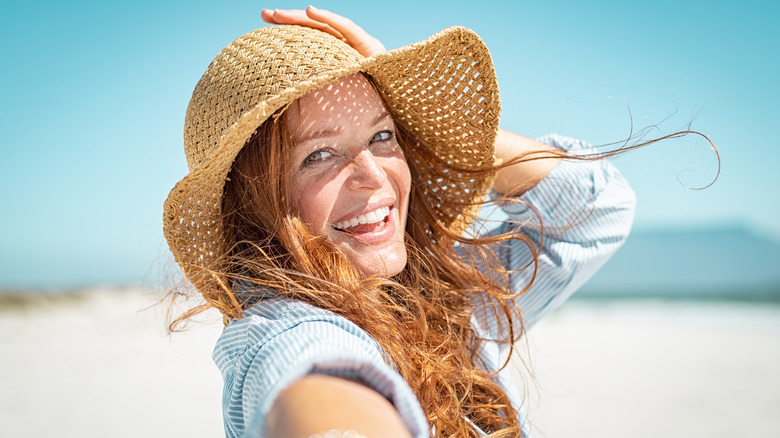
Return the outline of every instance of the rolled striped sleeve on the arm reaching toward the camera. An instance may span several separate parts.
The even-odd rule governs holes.
[[[398,410],[414,437],[428,437],[417,398],[366,332],[331,312],[277,298],[231,323],[214,359],[223,373],[223,413],[229,437],[260,437],[276,397],[308,374],[367,385]]]

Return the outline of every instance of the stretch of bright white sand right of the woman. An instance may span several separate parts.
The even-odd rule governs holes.
[[[780,437],[780,308],[573,302],[531,332],[535,436]]]

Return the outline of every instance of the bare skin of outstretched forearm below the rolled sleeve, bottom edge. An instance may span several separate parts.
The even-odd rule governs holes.
[[[330,429],[371,438],[411,437],[393,405],[360,383],[312,374],[287,387],[266,419],[268,438],[307,437]]]

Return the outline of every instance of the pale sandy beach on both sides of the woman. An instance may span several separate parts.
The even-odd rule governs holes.
[[[223,436],[210,314],[165,331],[158,296],[0,308],[0,436]],[[537,438],[780,436],[780,307],[572,301],[530,332]]]

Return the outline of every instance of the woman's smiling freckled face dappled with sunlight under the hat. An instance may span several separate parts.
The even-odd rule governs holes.
[[[365,275],[406,266],[411,175],[393,119],[362,74],[300,98],[287,112],[293,208]]]

